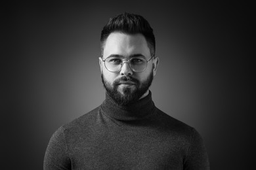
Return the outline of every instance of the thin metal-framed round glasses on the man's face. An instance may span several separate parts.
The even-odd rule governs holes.
[[[152,56],[153,58],[154,56]],[[150,59],[152,59],[150,58]],[[136,73],[140,73],[145,71],[146,66],[148,65],[148,61],[144,57],[133,57],[131,59],[120,59],[119,57],[108,57],[105,60],[102,58],[102,61],[104,61],[105,67],[108,71],[116,73],[121,70],[121,67],[123,66],[124,62],[129,63],[129,67]]]

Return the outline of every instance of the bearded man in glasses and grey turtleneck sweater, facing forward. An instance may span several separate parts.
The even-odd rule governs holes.
[[[53,134],[44,169],[209,169],[198,132],[152,101],[159,59],[148,22],[120,14],[104,26],[100,42],[106,99]]]

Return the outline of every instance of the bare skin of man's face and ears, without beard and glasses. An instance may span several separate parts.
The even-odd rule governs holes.
[[[134,54],[141,54],[147,60],[152,57],[145,37],[142,34],[129,35],[126,33],[114,32],[110,33],[104,43],[102,58],[106,59],[110,55],[119,55],[121,59],[130,59]],[[128,62],[124,62],[119,72],[112,73],[106,69],[102,58],[99,58],[100,71],[110,84],[112,84],[117,78],[125,75],[132,76],[133,78],[137,78],[140,82],[143,82],[151,72],[154,76],[156,75],[159,63],[159,58],[152,58],[148,61],[145,71],[136,73],[129,67]],[[131,88],[132,91],[135,90],[135,86],[132,84],[120,84],[117,91],[123,93],[123,88]],[[148,90],[144,95],[142,95],[142,97],[145,97],[146,95],[148,95]]]

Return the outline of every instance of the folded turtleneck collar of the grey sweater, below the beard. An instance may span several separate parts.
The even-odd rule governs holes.
[[[152,101],[152,93],[149,92],[148,95],[137,103],[133,103],[127,106],[120,106],[106,93],[106,99],[100,106],[103,113],[106,116],[115,118],[117,120],[140,120],[154,113],[156,107]]]

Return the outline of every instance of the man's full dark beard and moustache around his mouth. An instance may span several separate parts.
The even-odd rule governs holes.
[[[153,77],[153,71],[151,71],[150,75],[148,75],[146,80],[143,82],[140,82],[137,80],[137,78],[128,75],[117,78],[111,84],[106,80],[106,78],[104,78],[104,75],[101,74],[102,83],[106,89],[106,93],[108,93],[108,95],[110,95],[110,97],[112,97],[112,99],[114,99],[114,101],[121,106],[130,105],[136,101],[139,101],[140,97],[142,97],[142,95],[144,95],[144,93],[146,93],[151,86]],[[121,90],[118,90],[121,81],[133,82],[133,86],[135,86],[135,88],[123,87]]]

